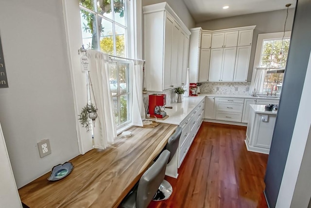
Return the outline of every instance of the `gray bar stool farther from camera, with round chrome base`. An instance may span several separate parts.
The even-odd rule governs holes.
[[[179,139],[182,132],[182,128],[178,126],[175,130],[175,132],[170,136],[167,145],[166,150],[170,151],[170,158],[168,160],[168,164],[171,162],[174,154],[176,153],[179,145]],[[172,185],[167,181],[163,180],[161,185],[159,186],[159,189],[156,192],[155,197],[153,198],[154,201],[162,201],[170,198],[170,196],[173,193],[173,187]]]

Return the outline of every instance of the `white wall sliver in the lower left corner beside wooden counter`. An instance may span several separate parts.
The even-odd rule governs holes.
[[[0,208],[21,208],[9,155],[0,124]]]

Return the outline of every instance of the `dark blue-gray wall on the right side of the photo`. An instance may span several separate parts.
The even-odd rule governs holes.
[[[311,1],[297,1],[284,84],[265,175],[265,194],[271,208],[276,206],[306,77],[311,52],[310,19]]]

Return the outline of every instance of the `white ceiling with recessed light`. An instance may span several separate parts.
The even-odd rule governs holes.
[[[246,15],[258,12],[286,9],[291,3],[294,8],[296,0],[184,0],[195,22]],[[223,6],[229,6],[223,9]]]

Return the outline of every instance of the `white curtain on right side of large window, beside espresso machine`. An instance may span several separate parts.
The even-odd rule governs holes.
[[[135,126],[143,126],[142,119],[145,118],[145,107],[142,98],[142,76],[143,60],[135,60],[132,70],[133,77],[133,105],[132,105],[132,122]]]

